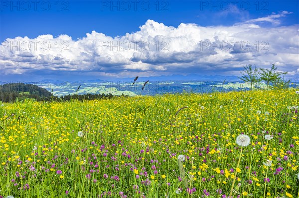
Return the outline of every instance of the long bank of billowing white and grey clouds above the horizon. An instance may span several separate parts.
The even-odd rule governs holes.
[[[203,27],[181,23],[172,27],[148,20],[140,30],[110,37],[92,31],[73,40],[68,35],[7,38],[1,43],[1,75],[37,71],[81,72],[127,77],[174,73],[239,75],[245,64],[298,75],[298,25],[279,24],[290,12],[273,13],[232,26]]]

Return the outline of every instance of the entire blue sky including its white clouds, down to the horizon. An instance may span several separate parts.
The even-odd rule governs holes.
[[[245,64],[272,63],[298,78],[298,0],[0,3],[1,80],[239,75]],[[133,49],[136,39],[140,43]],[[49,41],[51,49],[36,50],[32,41]],[[205,47],[206,41],[220,45]],[[247,41],[250,50],[234,49],[235,41]],[[120,49],[103,48],[111,42]],[[128,51],[122,48],[127,42]],[[151,48],[144,50],[142,42]],[[23,50],[24,43],[30,43],[30,50]],[[221,48],[227,43],[228,51]],[[63,46],[68,51],[61,51]]]

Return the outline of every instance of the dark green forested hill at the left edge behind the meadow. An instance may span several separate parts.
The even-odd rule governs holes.
[[[25,98],[49,98],[52,93],[48,90],[32,84],[8,83],[0,85],[0,100],[2,102],[13,102],[16,98],[22,100]]]

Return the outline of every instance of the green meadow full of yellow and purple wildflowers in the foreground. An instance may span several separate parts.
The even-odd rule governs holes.
[[[0,103],[0,198],[298,198],[299,91]]]

